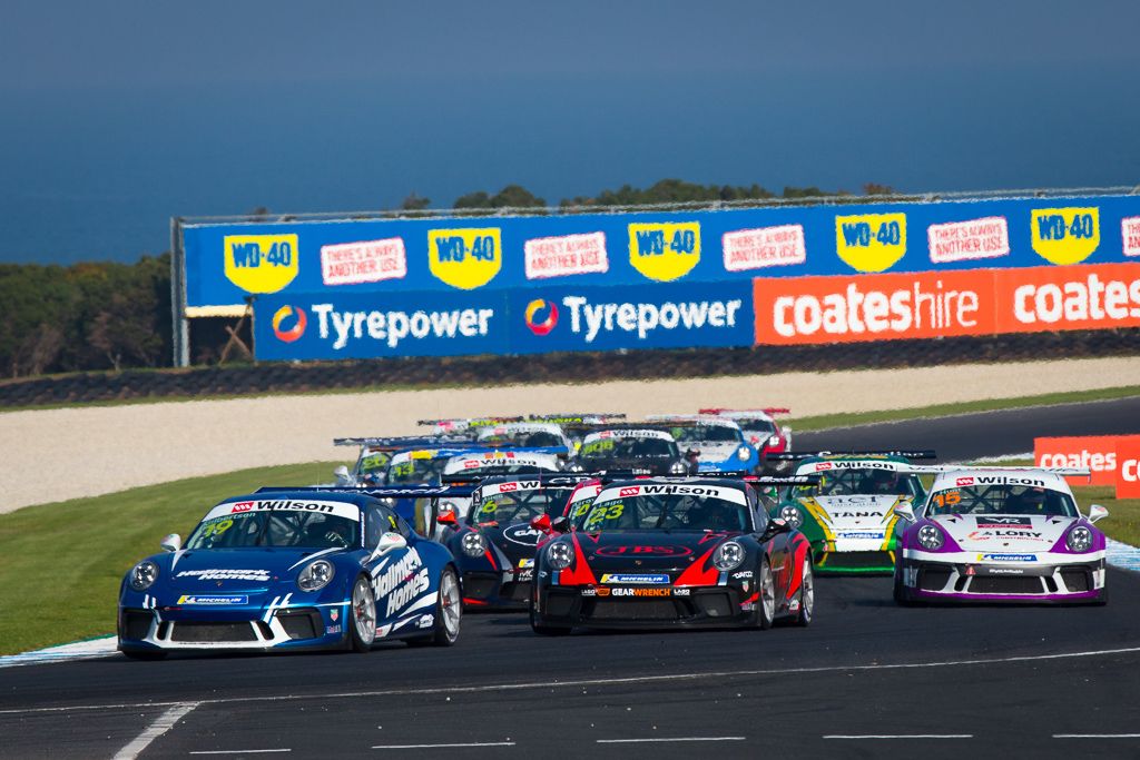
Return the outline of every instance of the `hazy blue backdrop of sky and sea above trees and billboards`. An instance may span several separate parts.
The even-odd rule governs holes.
[[[1137,186],[1137,28],[1135,0],[5,0],[0,262],[513,182]]]

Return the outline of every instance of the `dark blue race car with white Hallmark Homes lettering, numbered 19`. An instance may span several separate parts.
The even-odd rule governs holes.
[[[119,649],[158,659],[203,649],[367,652],[381,638],[450,646],[463,608],[455,561],[382,501],[410,491],[262,489],[226,499],[185,547],[168,536],[164,554],[127,573]]]

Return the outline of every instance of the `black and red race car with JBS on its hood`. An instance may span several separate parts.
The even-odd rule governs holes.
[[[812,477],[620,480],[536,557],[530,622],[576,627],[756,627],[812,621],[807,539],[769,518],[758,487]]]

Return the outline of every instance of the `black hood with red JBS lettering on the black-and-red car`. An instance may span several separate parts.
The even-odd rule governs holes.
[[[701,564],[699,561],[730,536],[732,534],[697,531],[576,533],[583,555],[595,574],[656,572],[669,573],[673,579],[691,566]]]

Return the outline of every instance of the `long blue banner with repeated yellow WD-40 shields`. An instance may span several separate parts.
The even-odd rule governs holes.
[[[1140,261],[1140,196],[344,218],[181,229],[186,305],[194,310],[241,307],[249,296],[268,294],[320,293],[335,301],[359,293],[435,292],[449,299],[535,291],[543,297],[548,287],[929,272],[953,278],[976,269],[1118,264]]]

